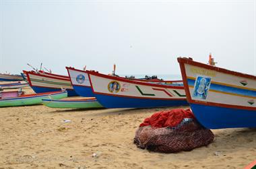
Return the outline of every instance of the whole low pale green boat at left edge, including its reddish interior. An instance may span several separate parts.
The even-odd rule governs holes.
[[[46,92],[41,94],[24,94],[24,92],[1,92],[0,107],[7,106],[28,106],[34,104],[42,104],[42,99],[61,99],[66,98],[66,91]]]

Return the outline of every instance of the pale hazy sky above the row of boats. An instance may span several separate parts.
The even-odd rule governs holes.
[[[180,74],[177,57],[256,75],[256,0],[0,0],[0,72],[40,63],[119,74]]]

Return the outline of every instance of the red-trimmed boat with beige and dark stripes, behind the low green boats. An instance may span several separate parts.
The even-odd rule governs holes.
[[[24,71],[24,73],[26,73],[30,87],[36,93],[55,92],[65,89],[68,96],[77,96],[68,76],[35,71]]]

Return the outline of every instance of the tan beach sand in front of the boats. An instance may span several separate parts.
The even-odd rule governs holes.
[[[137,148],[139,124],[168,109],[0,108],[0,168],[244,168],[255,160],[256,129],[213,130],[212,144],[177,154]]]

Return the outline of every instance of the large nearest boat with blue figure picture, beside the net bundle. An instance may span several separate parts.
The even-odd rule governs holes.
[[[256,127],[256,77],[178,58],[187,100],[208,129]]]

